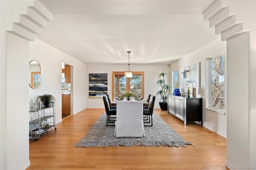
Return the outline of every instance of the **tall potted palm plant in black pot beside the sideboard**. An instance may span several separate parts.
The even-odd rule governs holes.
[[[168,74],[162,71],[162,73],[158,75],[158,80],[156,81],[156,85],[161,87],[161,89],[156,92],[156,95],[159,95],[161,98],[159,105],[162,110],[167,110],[168,92],[171,90],[171,86],[166,84],[166,76],[168,76]]]

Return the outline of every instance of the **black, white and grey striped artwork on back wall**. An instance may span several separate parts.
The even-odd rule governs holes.
[[[108,94],[108,74],[89,74],[89,98]]]

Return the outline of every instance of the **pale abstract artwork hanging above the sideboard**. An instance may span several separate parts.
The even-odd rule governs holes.
[[[188,92],[188,88],[192,92],[192,88],[196,88],[196,94],[200,94],[200,63],[191,64],[180,70],[180,91]]]

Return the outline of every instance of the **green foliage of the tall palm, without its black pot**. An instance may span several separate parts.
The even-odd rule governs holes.
[[[168,74],[164,71],[158,75],[158,80],[156,81],[156,85],[160,86],[161,89],[156,92],[156,95],[160,96],[161,100],[164,103],[167,103],[167,95],[171,90],[171,86],[166,84],[166,80],[164,79]]]

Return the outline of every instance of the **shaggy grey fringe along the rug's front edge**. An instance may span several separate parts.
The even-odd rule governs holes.
[[[192,145],[191,142],[152,142],[152,141],[136,141],[136,142],[102,142],[102,141],[90,141],[90,142],[78,142],[76,147],[108,147],[108,146],[152,146],[152,147],[184,147],[186,145]]]

